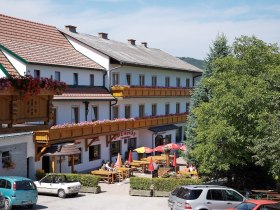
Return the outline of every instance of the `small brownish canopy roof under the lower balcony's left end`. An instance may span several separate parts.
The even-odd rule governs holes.
[[[81,151],[75,144],[57,144],[48,147],[43,156],[67,156],[80,153]]]

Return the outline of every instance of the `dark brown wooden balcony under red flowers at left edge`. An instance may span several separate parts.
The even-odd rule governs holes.
[[[0,90],[0,133],[49,128],[47,124],[52,118],[52,98],[53,93],[46,90],[25,99],[13,88]]]

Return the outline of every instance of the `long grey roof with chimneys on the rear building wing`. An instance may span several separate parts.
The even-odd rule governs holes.
[[[89,34],[73,33],[64,29],[60,31],[123,64],[202,72],[201,69],[159,49],[131,45]]]

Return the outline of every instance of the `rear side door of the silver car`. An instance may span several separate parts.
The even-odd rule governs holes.
[[[206,206],[208,209],[212,209],[212,210],[226,209],[223,190],[209,189],[206,195]]]

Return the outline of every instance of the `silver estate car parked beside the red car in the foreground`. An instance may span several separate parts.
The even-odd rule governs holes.
[[[232,208],[246,198],[237,191],[216,185],[186,185],[169,196],[171,210],[222,210]]]

